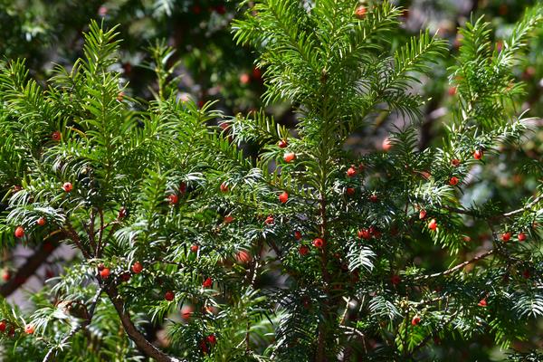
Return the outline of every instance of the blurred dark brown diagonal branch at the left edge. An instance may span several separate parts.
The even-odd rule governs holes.
[[[7,297],[16,291],[35,271],[42,266],[49,255],[59,246],[59,242],[66,238],[66,234],[58,230],[50,233],[43,243],[26,259],[23,265],[15,273],[14,277],[0,286],[0,295]],[[44,248],[45,243],[51,243],[51,248]]]

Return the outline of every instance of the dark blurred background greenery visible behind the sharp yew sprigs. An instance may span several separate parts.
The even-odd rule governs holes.
[[[367,6],[374,3],[361,2]],[[392,37],[391,50],[424,28],[447,39],[450,44],[449,56],[435,66],[433,77],[423,79],[422,85],[415,89],[428,99],[424,117],[420,119],[420,147],[439,146],[443,127],[450,117],[449,110],[455,107],[455,89],[449,86],[446,69],[454,62],[460,45],[457,28],[470,18],[476,20],[484,15],[492,24],[493,41],[500,49],[500,39],[510,33],[524,9],[534,1],[414,0],[393,3],[403,6],[405,11],[400,19],[400,30]],[[240,2],[220,0],[0,0],[0,62],[26,58],[33,78],[46,86],[54,64],[70,68],[82,56],[81,33],[87,30],[90,19],[97,19],[109,27],[120,24],[119,37],[123,42],[115,67],[123,74],[123,86],[127,86],[125,93],[128,96],[137,100],[152,98],[152,90],[157,84],[149,67],[148,48],[164,40],[176,49],[170,62],[181,64],[177,69],[181,75],[179,97],[193,99],[199,104],[218,100],[215,108],[229,116],[247,113],[263,106],[261,95],[265,85],[262,74],[265,70],[254,66],[252,49],[233,42],[229,24],[233,17],[251,6],[251,2],[240,5]],[[533,195],[540,184],[536,175],[543,169],[543,31],[530,43],[528,55],[515,68],[515,76],[526,83],[526,95],[518,100],[516,107],[518,114],[527,111],[525,117],[534,117],[532,132],[521,149],[504,147],[498,157],[488,161],[492,165],[473,171],[472,182],[468,182],[463,190],[463,198],[468,203],[492,199],[503,205],[518,205],[520,198]],[[295,126],[296,116],[290,104],[274,104],[265,109],[280,123],[291,128]],[[379,117],[371,127],[353,135],[346,147],[360,153],[380,149],[388,131],[405,122],[394,114]],[[245,145],[248,154],[256,153],[256,147]],[[528,166],[511,167],[519,164]],[[463,251],[466,255],[484,243],[491,243],[491,235],[484,225],[473,225],[470,236],[472,247]],[[436,252],[432,262],[441,262],[443,265],[438,268],[446,268],[447,255],[443,251],[434,250],[433,245],[428,245],[426,250],[423,248],[421,246],[421,255]],[[3,251],[0,293],[11,300],[23,301],[25,289],[39,289],[45,278],[62,272],[62,262],[71,257],[71,250],[56,249],[56,245],[40,246],[36,250],[18,247]],[[20,277],[17,271],[21,268],[26,268],[26,274],[30,276]],[[531,327],[532,338],[515,348],[543,348],[543,325],[539,322]],[[454,342],[448,344],[449,348],[451,346]],[[452,361],[497,361],[504,357],[491,337],[488,340],[481,338],[472,346],[437,347],[433,353],[434,358]]]

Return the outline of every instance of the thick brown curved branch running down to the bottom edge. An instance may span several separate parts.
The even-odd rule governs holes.
[[[162,352],[160,349],[151,344],[138,329],[136,329],[136,326],[134,326],[134,323],[132,322],[132,319],[130,319],[128,312],[124,309],[124,303],[120,299],[117,288],[114,285],[107,289],[106,293],[108,294],[108,297],[110,297],[110,300],[113,303],[115,310],[117,310],[119,319],[125,331],[129,335],[129,338],[134,341],[140,351],[145,353],[148,357],[155,358],[157,362],[182,361],[181,359],[168,356],[166,353]]]

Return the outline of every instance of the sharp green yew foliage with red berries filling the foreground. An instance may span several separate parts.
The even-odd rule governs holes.
[[[234,40],[293,129],[187,98],[160,41],[153,99],[129,97],[119,28],[96,22],[45,87],[24,61],[2,66],[2,247],[78,251],[33,310],[2,300],[5,356],[487,360],[499,345],[538,360],[543,168],[523,149],[540,124],[519,67],[543,6],[499,43],[472,18],[452,61],[440,36],[405,37],[386,1],[240,9]],[[429,145],[421,83],[436,72],[451,104]]]

